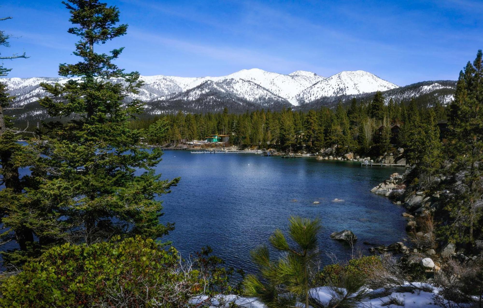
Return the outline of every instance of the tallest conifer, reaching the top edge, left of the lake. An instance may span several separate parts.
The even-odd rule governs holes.
[[[50,127],[39,143],[45,164],[55,172],[45,172],[42,166],[34,172],[45,178],[45,193],[57,192],[55,196],[46,193],[41,202],[63,217],[65,234],[43,236],[92,244],[115,234],[152,238],[167,234],[173,226],[159,223],[162,206],[155,197],[169,192],[179,179],[160,180],[153,167],[162,153],[140,148],[142,132],[128,128],[128,120],[142,112],[138,100],[123,101],[128,93],[138,92],[139,73],[125,74],[113,63],[122,48],[109,55],[94,51],[94,46],[125,35],[128,26],[116,26],[119,10],[99,0],[63,4],[71,13],[71,23],[77,25],[68,32],[80,38],[73,53],[81,60],[60,64],[59,75],[80,80],[42,84],[50,93],[40,100],[48,114],[70,118],[65,126]],[[111,78],[122,78],[125,85]]]

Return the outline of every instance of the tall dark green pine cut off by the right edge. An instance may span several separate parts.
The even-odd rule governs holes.
[[[460,72],[449,110],[451,171],[460,192],[446,204],[451,223],[442,229],[446,238],[470,245],[483,236],[482,58],[479,50],[473,64]]]

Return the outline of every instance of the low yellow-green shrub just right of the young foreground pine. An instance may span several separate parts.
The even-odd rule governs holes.
[[[367,280],[372,273],[382,267],[381,259],[377,256],[367,256],[351,259],[347,264],[330,264],[318,271],[313,277],[314,286],[341,284],[344,276],[350,276],[357,280]]]

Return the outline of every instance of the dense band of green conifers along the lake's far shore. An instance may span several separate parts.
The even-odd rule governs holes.
[[[322,157],[373,157],[387,164],[395,158],[415,161],[421,147],[431,151],[447,130],[446,107],[417,105],[415,100],[385,103],[381,92],[370,101],[357,101],[336,108],[321,107],[308,112],[284,109],[244,114],[186,114],[178,112],[136,119],[130,127],[142,129],[148,144],[165,147],[198,145],[233,146],[237,149],[274,149],[283,153],[314,154]],[[156,130],[157,129],[157,130]],[[229,136],[218,144],[213,135]],[[193,143],[194,142],[194,143]],[[403,152],[405,153],[404,155]],[[370,159],[369,159],[370,160]]]

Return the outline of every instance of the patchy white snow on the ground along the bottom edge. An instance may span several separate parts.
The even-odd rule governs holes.
[[[440,308],[435,305],[434,297],[440,292],[440,288],[434,287],[428,283],[411,282],[404,283],[391,288],[394,290],[388,294],[387,289],[367,290],[369,298],[361,301],[357,308]],[[344,292],[344,290],[341,290]],[[333,297],[337,297],[335,291],[331,287],[319,287],[311,290],[313,298],[318,299],[320,303],[327,306]],[[193,304],[206,301],[207,296],[199,296],[192,300]],[[266,308],[264,304],[256,298],[239,297],[235,295],[220,295],[211,301],[210,307],[229,307],[230,303],[235,302],[239,307],[244,308]],[[402,304],[402,306],[400,306]],[[445,301],[448,304],[448,301]],[[451,303],[450,303],[451,304]],[[299,304],[298,307],[304,307]]]

